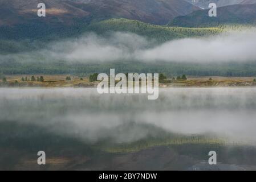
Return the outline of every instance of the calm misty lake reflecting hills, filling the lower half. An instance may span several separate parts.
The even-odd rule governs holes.
[[[1,88],[0,169],[256,169],[256,88],[147,96]],[[209,151],[217,165],[208,164]]]

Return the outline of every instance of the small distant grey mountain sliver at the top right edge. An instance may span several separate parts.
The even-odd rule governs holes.
[[[201,9],[208,9],[209,3],[216,3],[217,7],[238,5],[238,4],[252,4],[256,0],[186,0]]]

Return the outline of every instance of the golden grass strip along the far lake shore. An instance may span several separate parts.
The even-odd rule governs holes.
[[[96,87],[97,82],[90,82],[88,77],[70,76],[71,80],[67,81],[69,75],[34,75],[36,77],[43,76],[44,81],[30,81],[32,75],[7,75],[7,83],[1,86],[16,86],[16,87],[40,87],[40,88],[55,88],[55,87]],[[28,78],[28,81],[22,81],[22,77]],[[210,80],[212,78],[212,80]],[[167,87],[208,87],[208,86],[256,86],[255,77],[188,77],[188,80],[168,80],[160,83],[160,88]]]

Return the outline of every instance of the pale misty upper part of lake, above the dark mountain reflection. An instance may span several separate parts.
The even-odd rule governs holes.
[[[156,101],[96,89],[2,88],[0,103],[0,125],[34,125],[85,143],[136,142],[164,131],[256,144],[256,88],[160,89]]]

